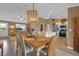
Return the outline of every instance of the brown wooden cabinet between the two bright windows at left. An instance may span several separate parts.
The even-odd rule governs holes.
[[[8,36],[13,37],[15,36],[16,32],[16,24],[13,22],[8,23]]]

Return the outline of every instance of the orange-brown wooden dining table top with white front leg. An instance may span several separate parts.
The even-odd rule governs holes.
[[[49,38],[38,37],[38,38],[26,38],[25,42],[30,44],[34,50],[36,51],[36,55],[40,55],[40,50],[45,47],[47,43],[49,43]]]

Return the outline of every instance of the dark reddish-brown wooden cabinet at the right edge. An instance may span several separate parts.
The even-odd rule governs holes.
[[[74,51],[79,53],[79,17],[73,18],[74,22]]]

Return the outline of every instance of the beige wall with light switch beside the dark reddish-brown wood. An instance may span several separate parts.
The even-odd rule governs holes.
[[[73,17],[79,16],[79,6],[68,8],[68,40],[67,46],[73,48],[73,39],[74,39],[74,32],[73,32]]]

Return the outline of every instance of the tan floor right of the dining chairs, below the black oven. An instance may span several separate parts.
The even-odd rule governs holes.
[[[58,37],[55,48],[56,56],[78,56],[79,54],[72,49],[67,48],[67,39],[65,37]]]

